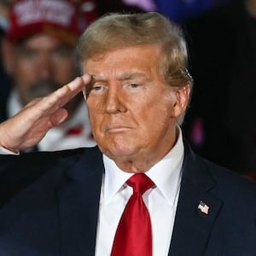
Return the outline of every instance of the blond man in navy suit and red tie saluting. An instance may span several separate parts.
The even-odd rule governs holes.
[[[83,90],[98,148],[1,155],[0,253],[253,255],[255,184],[183,143],[192,81],[181,30],[157,13],[106,15],[78,51],[86,74],[2,123],[0,145],[37,143]]]

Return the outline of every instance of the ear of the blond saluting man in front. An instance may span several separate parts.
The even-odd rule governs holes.
[[[174,102],[173,102],[173,112],[172,118],[178,118],[183,113],[185,113],[190,96],[190,85],[185,84],[183,87],[174,88]]]

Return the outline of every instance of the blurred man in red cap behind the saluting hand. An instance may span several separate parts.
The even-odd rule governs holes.
[[[84,19],[87,23],[91,21],[90,13],[88,20]],[[71,1],[15,1],[3,40],[3,62],[13,80],[13,90],[6,109],[0,109],[2,119],[15,115],[33,98],[46,96],[77,75],[74,46],[84,25],[88,25],[81,19],[77,5]],[[95,145],[82,94],[68,103],[67,110],[69,119],[49,131],[38,143],[38,150]]]

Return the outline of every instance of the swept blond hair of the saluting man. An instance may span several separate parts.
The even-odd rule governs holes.
[[[145,44],[160,45],[160,72],[166,84],[192,87],[183,31],[156,12],[108,14],[91,23],[77,44],[79,65],[82,67],[90,58],[113,49]]]

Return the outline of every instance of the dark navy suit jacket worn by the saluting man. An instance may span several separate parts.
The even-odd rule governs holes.
[[[98,148],[2,155],[0,163],[0,255],[94,255],[104,172]],[[255,255],[255,200],[255,183],[186,146],[170,255]]]

